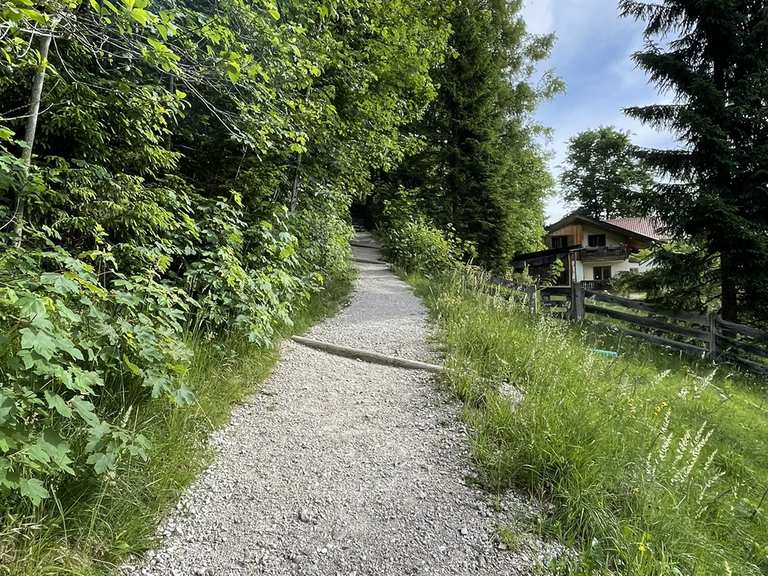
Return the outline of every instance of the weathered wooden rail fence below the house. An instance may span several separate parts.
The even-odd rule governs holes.
[[[666,312],[582,285],[537,288],[499,279],[494,284],[523,294],[533,314],[543,310],[575,322],[609,322],[628,336],[768,375],[768,332],[728,322],[717,314]]]

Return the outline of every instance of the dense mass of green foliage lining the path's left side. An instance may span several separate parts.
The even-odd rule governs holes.
[[[189,334],[266,346],[349,276],[351,198],[416,148],[450,29],[430,0],[0,0],[0,21],[6,518],[147,451],[124,423],[193,400]]]

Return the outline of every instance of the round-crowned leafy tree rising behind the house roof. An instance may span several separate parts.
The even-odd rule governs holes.
[[[580,212],[609,219],[641,215],[653,179],[629,132],[607,126],[571,138],[560,184]]]

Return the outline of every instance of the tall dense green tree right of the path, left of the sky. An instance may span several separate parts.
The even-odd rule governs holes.
[[[426,147],[396,175],[419,192],[422,209],[476,244],[480,262],[502,268],[543,235],[543,199],[553,186],[544,131],[530,115],[562,83],[530,77],[553,36],[531,36],[520,0],[458,0],[451,13],[455,51],[435,71],[437,100],[416,131]],[[395,187],[396,188],[396,187]]]

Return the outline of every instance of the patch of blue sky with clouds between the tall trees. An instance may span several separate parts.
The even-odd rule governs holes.
[[[655,132],[624,115],[623,108],[659,103],[645,72],[636,68],[632,53],[642,48],[643,24],[621,18],[618,0],[526,0],[523,17],[534,34],[557,36],[551,69],[566,83],[566,92],[542,104],[536,119],[553,130],[546,143],[553,153],[550,166],[560,173],[568,139],[599,126],[616,126],[632,133],[640,146],[666,147],[669,135]],[[559,194],[547,201],[547,221],[568,212]]]

